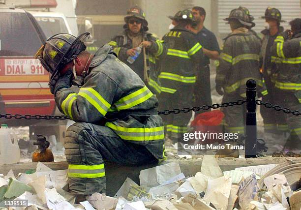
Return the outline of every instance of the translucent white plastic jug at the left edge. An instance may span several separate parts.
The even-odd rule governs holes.
[[[1,124],[0,127],[0,165],[20,161],[20,149],[15,132]]]

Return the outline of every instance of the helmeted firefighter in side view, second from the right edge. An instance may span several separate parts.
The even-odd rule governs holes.
[[[284,21],[281,20],[280,11],[271,7],[266,9],[265,16],[262,18],[266,20],[266,29],[261,31],[264,37],[260,59],[263,77],[269,92],[269,94],[263,96],[262,100],[271,104],[279,104],[279,100],[282,96],[278,94],[278,90],[275,89],[275,61],[277,59],[271,56],[271,47],[279,33],[283,32],[283,27],[280,26],[280,23]],[[285,132],[288,131],[288,125],[285,123],[285,114],[283,112],[275,112],[263,107],[260,109],[260,113],[264,120],[265,139],[281,139],[282,135],[285,136]]]

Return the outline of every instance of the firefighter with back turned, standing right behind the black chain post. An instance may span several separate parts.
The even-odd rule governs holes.
[[[233,9],[228,18],[230,33],[224,42],[216,69],[216,91],[223,95],[223,102],[245,99],[245,84],[249,79],[257,82],[259,92],[263,83],[259,70],[260,40],[246,27],[250,27],[249,17],[241,9]],[[245,110],[243,106],[222,109],[229,132],[244,133]]]

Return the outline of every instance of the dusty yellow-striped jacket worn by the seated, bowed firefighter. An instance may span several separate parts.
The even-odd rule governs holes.
[[[158,100],[110,45],[96,52],[78,92],[61,89],[55,100],[72,120],[107,126],[122,140],[144,145],[158,160],[165,158]]]

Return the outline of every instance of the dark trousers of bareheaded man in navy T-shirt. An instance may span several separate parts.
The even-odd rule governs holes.
[[[204,66],[198,74],[194,88],[195,104],[194,106],[211,105],[211,85],[210,85],[210,67]],[[201,110],[200,112],[209,112],[210,110]]]

